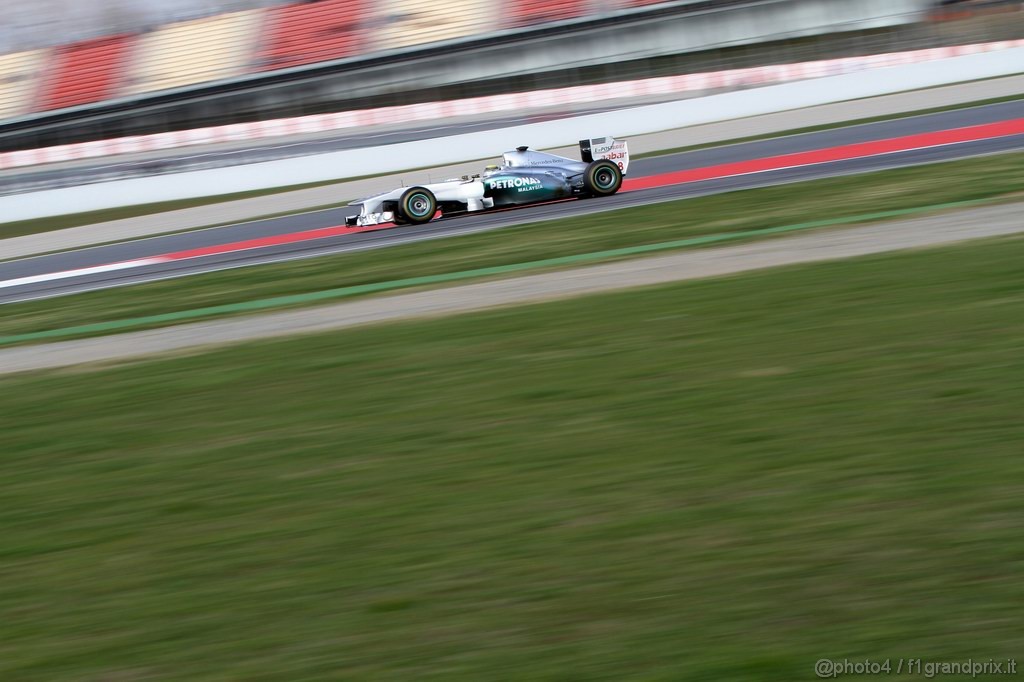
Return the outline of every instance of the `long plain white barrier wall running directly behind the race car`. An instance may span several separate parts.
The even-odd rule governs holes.
[[[270,189],[308,182],[391,173],[496,157],[519,144],[550,148],[595,135],[629,137],[674,128],[774,114],[905,90],[994,78],[1024,71],[1024,48],[971,54],[772,85],[451,137],[335,152],[234,168],[117,180],[0,198],[4,221],[97,211],[181,199]]]

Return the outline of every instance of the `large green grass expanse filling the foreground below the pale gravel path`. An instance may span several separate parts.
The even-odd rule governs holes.
[[[0,679],[1017,655],[1022,259],[1008,239],[2,379]]]

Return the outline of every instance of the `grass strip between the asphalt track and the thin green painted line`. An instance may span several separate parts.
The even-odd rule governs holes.
[[[1024,153],[1015,153],[729,193],[495,232],[7,304],[0,317],[0,337],[671,240],[772,228],[940,201],[1006,197],[1022,189]]]

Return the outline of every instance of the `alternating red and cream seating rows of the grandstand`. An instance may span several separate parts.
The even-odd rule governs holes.
[[[0,120],[664,0],[306,0],[0,55]]]

